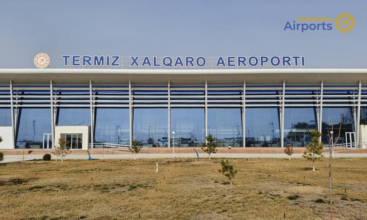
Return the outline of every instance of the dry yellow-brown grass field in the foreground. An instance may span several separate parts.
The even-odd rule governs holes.
[[[215,155],[214,155],[215,156]],[[323,163],[305,159],[26,161],[0,165],[0,219],[330,219]],[[335,220],[367,219],[367,159],[333,159]],[[18,180],[19,178],[19,180]],[[291,200],[294,199],[294,200]]]

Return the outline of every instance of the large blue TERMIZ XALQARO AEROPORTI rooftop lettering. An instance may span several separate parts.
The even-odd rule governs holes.
[[[109,67],[302,67],[304,56],[227,56],[227,57],[157,57],[157,56],[62,56],[64,66],[109,66]]]

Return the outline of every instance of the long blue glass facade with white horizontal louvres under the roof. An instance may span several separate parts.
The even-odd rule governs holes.
[[[0,127],[14,126],[14,148],[50,149],[53,125],[88,125],[89,143],[201,147],[211,134],[218,147],[304,147],[314,129],[328,143],[342,121],[339,141],[355,142],[367,124],[364,85],[48,83],[0,86]],[[81,149],[79,135],[65,134],[71,149]]]

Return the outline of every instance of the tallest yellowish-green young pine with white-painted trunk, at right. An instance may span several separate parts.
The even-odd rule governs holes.
[[[320,131],[313,130],[311,131],[311,134],[314,137],[311,138],[311,142],[308,144],[308,146],[305,146],[305,148],[308,149],[311,153],[304,152],[302,157],[306,158],[307,160],[312,160],[312,170],[315,171],[315,160],[322,159],[323,155],[321,150],[324,148],[324,144],[319,141],[319,138],[321,137]]]

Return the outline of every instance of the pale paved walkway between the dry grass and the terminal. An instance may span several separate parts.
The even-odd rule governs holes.
[[[325,155],[326,157],[329,156],[327,153]],[[33,159],[42,159],[43,155],[24,155],[24,160],[33,160]],[[91,155],[92,159],[132,159],[134,158],[134,154],[95,154]],[[196,158],[195,153],[185,153],[185,154],[175,154],[175,158]],[[208,154],[199,154],[199,158],[208,158]],[[215,153],[211,154],[211,157],[216,158],[288,158],[287,154],[225,154],[225,153]],[[292,154],[291,158],[301,158],[302,154]],[[338,157],[367,157],[367,153],[335,153],[335,158]],[[52,159],[56,159],[55,155],[51,155]],[[173,158],[173,154],[137,154],[137,159],[142,158]],[[72,155],[69,154],[68,156],[64,157],[65,160],[70,159],[88,159],[88,154],[86,155]],[[16,161],[22,161],[23,155],[5,155],[4,161],[2,163],[8,163],[8,162],[16,162]],[[58,160],[61,160],[61,157],[58,157]]]

